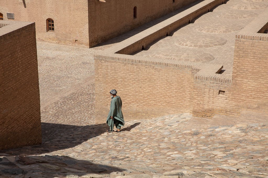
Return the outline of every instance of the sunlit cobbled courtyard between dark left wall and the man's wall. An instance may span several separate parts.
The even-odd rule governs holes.
[[[37,42],[42,122],[94,124],[94,53],[98,49]]]

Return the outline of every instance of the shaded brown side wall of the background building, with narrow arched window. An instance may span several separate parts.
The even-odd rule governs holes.
[[[128,32],[140,25],[162,17],[196,0],[107,0],[88,1],[89,43],[95,46],[110,38]],[[133,9],[137,7],[137,18]]]

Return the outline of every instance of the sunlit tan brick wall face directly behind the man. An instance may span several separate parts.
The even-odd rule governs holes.
[[[192,108],[193,73],[192,69],[95,59],[97,122],[106,121],[111,89],[118,91],[127,121],[185,113]]]

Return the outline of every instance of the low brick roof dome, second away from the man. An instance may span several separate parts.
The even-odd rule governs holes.
[[[210,48],[226,44],[226,40],[215,36],[189,36],[176,41],[176,45],[188,48]]]

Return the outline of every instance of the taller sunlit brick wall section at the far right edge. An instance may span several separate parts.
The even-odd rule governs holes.
[[[249,36],[248,36],[249,37]],[[268,37],[236,39],[232,102],[241,110],[268,113]]]

